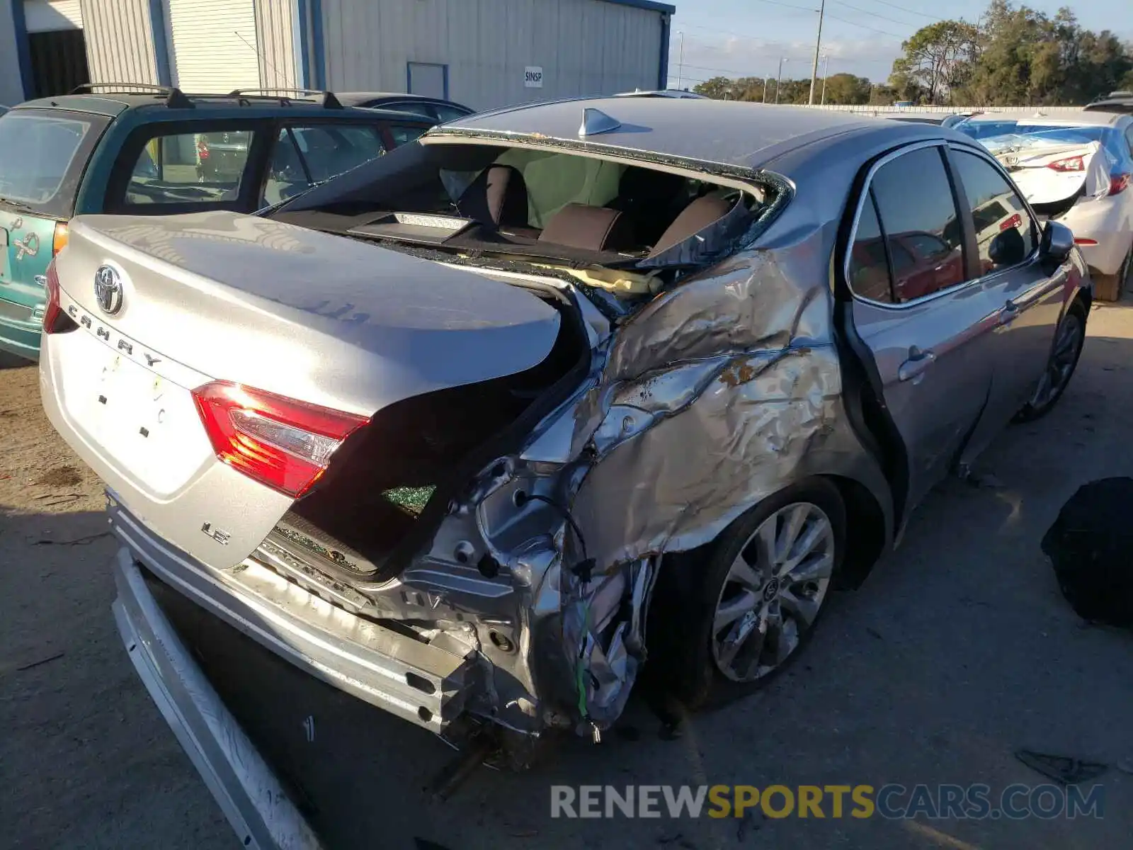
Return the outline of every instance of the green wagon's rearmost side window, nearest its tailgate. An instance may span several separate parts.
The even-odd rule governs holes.
[[[238,129],[151,137],[130,163],[126,205],[236,203],[254,137]]]

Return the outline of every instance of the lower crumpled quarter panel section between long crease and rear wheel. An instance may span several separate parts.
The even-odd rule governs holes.
[[[616,444],[589,471],[574,517],[590,555],[616,563],[713,539],[799,476],[835,431],[841,389],[833,347],[727,362],[687,409]]]

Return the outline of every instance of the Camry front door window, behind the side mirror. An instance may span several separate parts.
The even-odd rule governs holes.
[[[952,161],[972,207],[980,272],[1023,262],[1034,250],[1038,230],[1023,198],[982,156],[954,150]]]

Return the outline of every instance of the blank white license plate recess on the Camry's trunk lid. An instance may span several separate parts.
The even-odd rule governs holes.
[[[191,482],[213,454],[189,390],[83,329],[66,335],[59,376],[73,424],[119,475],[152,496],[170,496]]]

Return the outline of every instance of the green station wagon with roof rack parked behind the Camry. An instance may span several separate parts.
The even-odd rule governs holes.
[[[121,83],[0,113],[0,350],[37,358],[44,275],[74,215],[254,212],[432,124],[324,92],[186,95]]]

